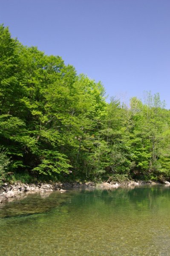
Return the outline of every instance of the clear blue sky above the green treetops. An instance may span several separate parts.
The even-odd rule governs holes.
[[[170,0],[0,0],[0,23],[101,81],[108,99],[151,90],[170,108]]]

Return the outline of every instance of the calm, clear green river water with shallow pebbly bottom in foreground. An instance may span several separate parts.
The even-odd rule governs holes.
[[[170,188],[29,194],[0,205],[0,256],[170,255]]]

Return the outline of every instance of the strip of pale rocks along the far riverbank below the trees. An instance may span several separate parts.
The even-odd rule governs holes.
[[[139,186],[144,184],[149,185],[156,185],[156,184],[166,184],[167,186],[170,186],[170,182],[164,180],[162,182],[153,182],[153,181],[143,181],[140,180],[138,182],[130,180],[126,182],[115,182],[107,180],[107,182],[103,183],[94,183],[94,182],[86,182],[86,183],[37,183],[37,184],[24,184],[21,182],[16,182],[13,185],[4,183],[2,186],[0,186],[0,203],[3,201],[9,200],[9,198],[17,198],[20,196],[21,193],[49,193],[54,190],[58,190],[58,192],[63,193],[66,192],[66,189],[71,188],[102,188],[102,189],[112,189],[112,188],[118,188],[119,186]]]

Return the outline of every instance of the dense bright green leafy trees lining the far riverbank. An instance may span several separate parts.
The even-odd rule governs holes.
[[[157,179],[170,175],[170,111],[159,95],[130,107],[61,57],[0,26],[0,180]]]

